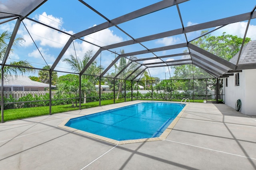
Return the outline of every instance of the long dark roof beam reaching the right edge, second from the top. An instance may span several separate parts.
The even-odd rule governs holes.
[[[219,19],[219,20],[205,22],[205,23],[202,23],[202,24],[196,24],[196,25],[193,25],[193,26],[188,26],[188,27],[185,27],[184,29],[179,28],[179,29],[176,29],[176,30],[162,32],[162,33],[158,33],[158,34],[154,34],[154,35],[150,35],[150,36],[145,36],[145,37],[142,37],[142,38],[136,38],[134,40],[128,40],[126,42],[120,42],[120,43],[115,43],[115,44],[111,44],[111,45],[106,45],[102,48],[104,50],[112,49],[112,48],[117,48],[117,47],[123,47],[123,46],[126,46],[126,45],[132,45],[134,43],[147,42],[147,41],[156,40],[156,39],[160,39],[160,38],[164,38],[164,37],[170,37],[170,36],[176,36],[176,35],[179,35],[179,34],[185,34],[185,33],[188,33],[188,32],[205,30],[205,29],[208,29],[208,28],[214,28],[214,27],[217,27],[217,26],[225,25],[225,24],[232,24],[232,23],[235,23],[235,22],[241,22],[241,21],[249,20],[250,16],[251,16],[251,12],[248,12],[248,13],[244,13],[244,14],[240,14],[240,15],[236,15],[236,16],[222,18],[222,19]],[[253,12],[252,19],[253,18],[256,18],[256,12]]]

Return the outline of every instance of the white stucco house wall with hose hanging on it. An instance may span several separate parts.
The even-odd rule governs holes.
[[[224,84],[225,104],[235,108],[236,101],[240,99],[242,101],[240,112],[246,115],[256,115],[256,69],[240,72],[239,86],[235,86],[235,74],[228,77],[228,87]]]

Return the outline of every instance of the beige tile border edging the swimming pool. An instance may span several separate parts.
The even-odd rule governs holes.
[[[139,100],[137,100],[137,101],[139,101]],[[139,101],[138,103],[142,103],[142,102],[152,102],[152,101]],[[170,102],[170,101],[154,101],[154,102],[180,103],[180,102]],[[126,102],[126,103],[130,103],[130,102]],[[133,104],[131,104],[131,105],[133,105]],[[114,104],[114,105],[116,105],[116,104]],[[150,141],[164,140],[170,134],[170,132],[172,131],[172,129],[174,128],[174,126],[176,125],[176,123],[178,122],[180,117],[182,117],[182,114],[184,113],[184,111],[186,110],[186,107],[188,105],[189,104],[185,105],[185,107],[182,109],[182,111],[180,111],[180,113],[176,116],[176,118],[172,121],[172,123],[166,128],[166,130],[164,130],[164,132],[159,137],[156,137],[156,138],[144,138],[144,139],[119,141],[119,140],[114,140],[114,139],[111,139],[111,138],[106,138],[104,136],[100,136],[100,135],[97,135],[97,134],[89,133],[89,132],[86,132],[86,131],[83,131],[83,130],[78,130],[76,128],[71,128],[71,127],[65,126],[66,123],[68,123],[68,121],[70,119],[75,118],[75,117],[81,117],[81,116],[84,116],[84,115],[76,115],[75,117],[65,119],[64,121],[62,121],[62,123],[60,123],[60,125],[58,125],[58,127],[64,128],[66,130],[70,130],[72,132],[76,132],[76,133],[79,133],[79,134],[83,134],[83,135],[86,135],[86,136],[90,136],[92,138],[96,138],[96,139],[99,139],[99,140],[110,142],[112,144],[130,144],[130,143],[138,143],[138,142],[150,142]],[[124,106],[120,106],[120,107],[124,107]],[[116,107],[116,108],[119,108],[119,107]],[[111,109],[108,109],[108,110],[111,110]],[[97,111],[96,113],[98,113],[98,112],[100,112],[100,111]],[[91,113],[91,114],[94,114],[94,113]],[[86,114],[86,115],[88,115],[88,114]]]

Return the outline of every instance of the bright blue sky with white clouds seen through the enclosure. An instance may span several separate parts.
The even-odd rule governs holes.
[[[92,6],[92,8],[95,10],[98,10],[98,12],[100,12],[106,18],[112,20],[159,1],[94,0],[85,2]],[[255,5],[256,3],[254,0],[244,0],[243,2],[240,0],[190,0],[188,2],[179,4],[179,9],[183,24],[186,27],[251,12]],[[0,9],[1,8],[3,8],[3,6],[0,6]],[[75,34],[106,22],[104,18],[94,13],[81,2],[76,0],[48,0],[46,3],[40,6],[40,8],[30,14],[29,18],[43,22],[44,24],[50,25],[54,28],[58,28],[59,30],[67,32],[68,34]],[[1,24],[0,33],[6,30],[12,32],[14,25],[15,21]],[[130,34],[130,36],[133,38],[141,38],[152,34],[182,28],[176,6],[157,11],[140,18],[136,18],[134,20],[119,24],[118,26],[126,33]],[[237,35],[243,38],[246,26],[246,21],[230,24],[215,32],[212,32],[212,35],[218,36],[223,32],[226,32],[226,34]],[[208,30],[212,29],[214,28]],[[188,33],[188,40],[193,40],[200,35],[200,32],[201,31]],[[251,38],[252,40],[256,40],[255,32],[256,20],[253,19],[250,22],[247,37]],[[18,47],[18,49],[14,49],[8,61],[27,60],[37,68],[42,68],[46,64],[52,65],[69,39],[68,35],[39,25],[30,20],[23,21],[23,23],[20,25],[16,37],[24,38],[25,42],[23,42],[22,45]],[[116,27],[107,28],[100,32],[82,37],[82,39],[90,43],[94,43],[98,46],[105,46],[112,43],[131,40],[130,37],[118,30]],[[184,42],[186,42],[185,36],[177,35],[149,42],[143,42],[142,44],[151,49]],[[90,43],[86,43],[81,40],[75,40],[62,57],[62,60],[58,63],[56,70],[72,72],[70,66],[68,66],[63,61],[63,59],[70,57],[70,55],[76,55],[77,57],[82,58],[84,53],[86,53],[88,50],[93,50],[93,53],[95,53],[99,47]],[[133,44],[126,47],[111,49],[111,51],[116,51],[118,53],[118,51],[122,49],[124,49],[125,53],[145,50],[142,45]],[[174,53],[182,53],[184,50],[186,50],[186,48],[160,51],[154,54],[162,56]],[[147,53],[138,55],[136,57],[148,58],[154,57],[154,54]],[[102,51],[102,53],[97,57],[97,61],[104,68],[106,68],[116,56],[116,54],[110,51]],[[180,58],[186,58],[186,56],[166,58],[164,60],[171,61]],[[144,63],[146,62],[149,61],[144,61]],[[111,71],[114,71],[114,68],[111,68],[110,72]],[[151,76],[164,79],[165,73],[168,71],[168,67],[152,68],[149,71]],[[58,73],[58,76],[64,74],[65,73]],[[37,73],[35,73],[34,76],[38,76]]]

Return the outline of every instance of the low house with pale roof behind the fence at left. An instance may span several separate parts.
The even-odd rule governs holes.
[[[4,79],[4,91],[44,91],[49,84],[31,80],[27,76],[11,76]],[[52,85],[52,87],[56,87]]]

